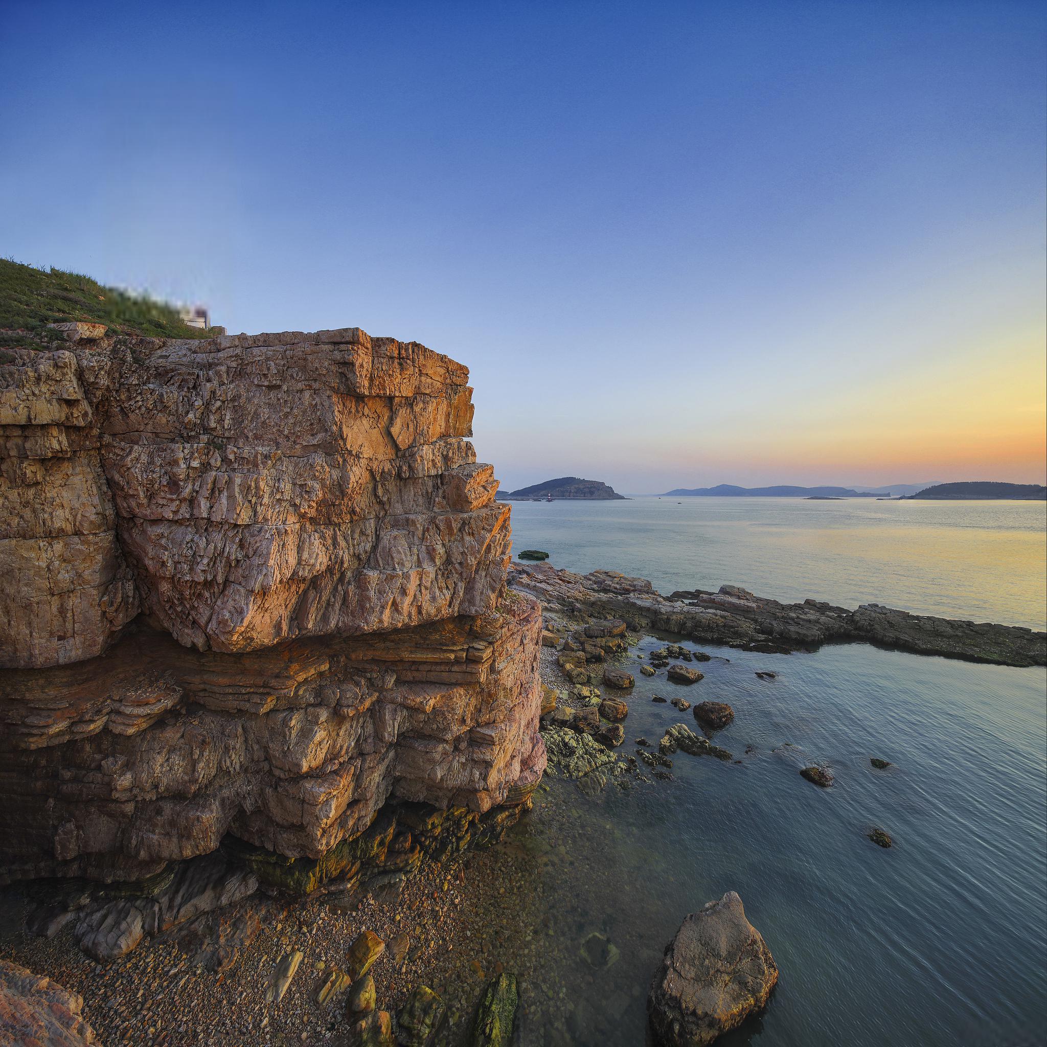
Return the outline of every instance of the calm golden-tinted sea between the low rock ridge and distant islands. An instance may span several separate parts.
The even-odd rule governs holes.
[[[847,607],[1047,625],[1047,503],[634,498],[513,502],[516,550],[662,593],[741,585]]]

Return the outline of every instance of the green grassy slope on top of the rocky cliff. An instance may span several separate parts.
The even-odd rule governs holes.
[[[47,325],[66,320],[105,324],[107,334],[155,338],[213,338],[218,333],[190,327],[166,303],[104,287],[90,276],[0,259],[0,347],[41,349],[61,340]]]

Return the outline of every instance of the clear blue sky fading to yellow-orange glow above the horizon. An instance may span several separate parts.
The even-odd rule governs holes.
[[[1047,5],[0,0],[0,254],[467,364],[503,487],[1044,483]]]

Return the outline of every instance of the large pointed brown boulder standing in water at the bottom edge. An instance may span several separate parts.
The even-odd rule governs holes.
[[[767,1002],[778,967],[741,898],[728,891],[691,913],[666,946],[647,998],[658,1043],[701,1047]]]

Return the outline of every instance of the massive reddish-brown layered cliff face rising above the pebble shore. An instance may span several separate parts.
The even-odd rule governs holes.
[[[357,329],[0,358],[0,877],[533,787],[540,611],[467,379]]]

